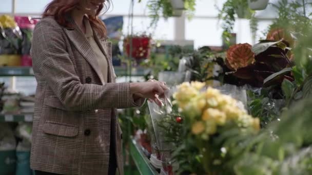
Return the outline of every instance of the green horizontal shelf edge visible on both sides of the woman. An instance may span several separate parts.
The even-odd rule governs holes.
[[[117,76],[129,76],[126,67],[114,67]],[[132,68],[131,76],[144,76],[148,73],[148,69]],[[0,76],[33,76],[31,67],[0,67]]]

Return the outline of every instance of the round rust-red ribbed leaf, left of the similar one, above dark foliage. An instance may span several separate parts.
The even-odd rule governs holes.
[[[245,68],[253,62],[255,54],[248,43],[233,45],[226,52],[225,64],[232,71]]]

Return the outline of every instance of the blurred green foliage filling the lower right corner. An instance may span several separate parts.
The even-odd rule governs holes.
[[[311,174],[312,143],[310,127],[312,99],[298,102],[281,116],[281,121],[271,123],[257,137],[246,139],[243,152],[233,162],[237,174]],[[235,139],[236,140],[236,139]],[[235,149],[241,149],[238,146]],[[235,149],[230,150],[235,151]],[[236,152],[236,151],[235,151]]]

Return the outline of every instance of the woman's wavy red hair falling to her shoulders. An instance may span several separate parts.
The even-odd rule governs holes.
[[[65,16],[70,14],[73,9],[79,8],[80,1],[86,0],[53,0],[47,5],[42,17],[44,18],[47,16],[53,16],[57,23],[59,23],[61,26],[72,27],[70,26],[70,24],[67,23]],[[108,2],[109,4],[109,1],[105,2]],[[107,11],[109,9],[109,6],[101,4],[95,16],[88,15],[91,27],[96,31],[97,34],[99,34],[101,39],[106,38],[106,26],[99,18],[99,14],[101,13],[104,6]]]

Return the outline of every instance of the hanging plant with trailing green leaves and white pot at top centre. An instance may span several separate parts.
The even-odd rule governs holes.
[[[141,0],[139,0],[141,2]],[[167,19],[172,16],[181,16],[183,12],[191,18],[195,11],[196,0],[149,0],[147,7],[151,27],[156,27],[161,15]]]

